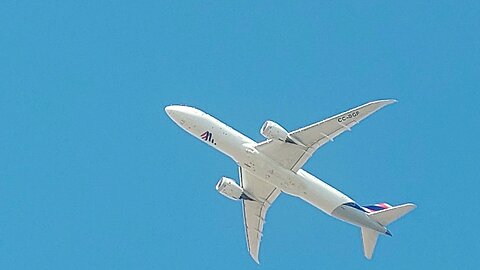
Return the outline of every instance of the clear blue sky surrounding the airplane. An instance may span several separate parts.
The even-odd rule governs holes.
[[[478,266],[479,2],[240,2],[1,2],[1,269]],[[163,110],[260,141],[380,98],[399,102],[306,164],[361,204],[418,204],[372,261],[282,195],[257,266],[214,188],[234,162]]]

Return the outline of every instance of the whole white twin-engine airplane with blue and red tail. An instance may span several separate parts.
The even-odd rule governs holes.
[[[260,143],[196,108],[170,105],[165,111],[185,131],[237,163],[240,184],[222,177],[216,190],[242,202],[248,251],[259,264],[267,210],[281,193],[298,197],[330,216],[360,227],[367,259],[372,258],[379,235],[392,236],[386,226],[416,208],[412,203],[360,206],[302,169],[318,148],[395,102],[392,99],[368,102],[292,132],[268,120],[260,129],[266,140]]]

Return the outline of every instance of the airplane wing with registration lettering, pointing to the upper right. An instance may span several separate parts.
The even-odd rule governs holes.
[[[296,141],[303,144],[285,143],[277,140],[267,140],[259,143],[256,148],[294,172],[298,171],[313,153],[322,145],[333,141],[335,137],[358,124],[372,113],[386,105],[396,102],[393,99],[377,100],[337,114],[323,121],[289,133]]]

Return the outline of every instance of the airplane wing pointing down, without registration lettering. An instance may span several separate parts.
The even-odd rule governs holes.
[[[252,198],[252,200],[242,200],[248,251],[255,262],[259,263],[258,252],[265,216],[270,205],[280,195],[280,189],[259,179],[242,167],[239,167],[239,173],[241,187]]]

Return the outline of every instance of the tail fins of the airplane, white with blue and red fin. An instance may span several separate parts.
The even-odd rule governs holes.
[[[386,203],[376,204],[374,206],[378,206],[379,208],[381,207],[382,209],[370,206],[364,206],[364,208],[369,209],[370,213],[368,216],[380,223],[382,226],[387,226],[417,207],[412,203],[406,203],[394,207]],[[363,251],[367,259],[371,259],[373,256],[373,251],[375,250],[375,246],[377,244],[378,234],[379,233],[377,231],[362,227]],[[390,236],[392,235],[388,230],[385,232],[385,234]]]

